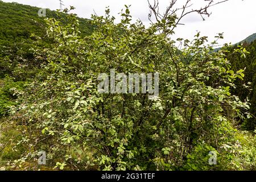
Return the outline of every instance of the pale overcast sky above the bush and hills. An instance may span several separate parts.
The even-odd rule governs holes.
[[[59,9],[59,0],[3,0],[4,2],[18,2],[24,5],[47,7],[51,10]],[[109,6],[112,14],[118,13],[124,5],[131,5],[131,15],[134,19],[141,19],[144,24],[149,24],[147,15],[149,13],[147,0],[62,0],[64,7],[75,6],[73,11],[82,18],[90,18],[93,10],[97,15],[105,13],[105,7]],[[182,4],[185,0],[177,0]],[[216,2],[218,0],[215,0]],[[168,5],[170,0],[159,0],[160,7]],[[203,6],[203,0],[192,0],[193,8]],[[212,15],[203,21],[198,14],[190,14],[183,19],[185,25],[176,28],[174,38],[192,39],[197,31],[201,35],[208,36],[213,40],[219,32],[224,32],[223,43],[237,43],[247,36],[256,33],[256,1],[255,0],[229,0],[210,9]]]

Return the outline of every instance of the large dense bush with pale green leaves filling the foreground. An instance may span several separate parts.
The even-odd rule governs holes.
[[[79,20],[65,12],[46,19],[48,47],[34,35],[31,51],[44,61],[25,89],[13,90],[16,104],[1,123],[7,169],[256,169],[255,136],[237,127],[252,117],[246,96],[233,93],[244,70],[232,71],[226,59],[246,49],[214,52],[216,42],[197,34],[178,39],[179,50],[171,38],[175,15],[146,28],[131,23],[127,6],[119,23],[109,9],[93,15],[94,31],[82,35]],[[99,93],[98,75],[110,69],[159,72],[159,97]],[[36,161],[42,150],[46,167]],[[208,163],[210,151],[217,165]]]

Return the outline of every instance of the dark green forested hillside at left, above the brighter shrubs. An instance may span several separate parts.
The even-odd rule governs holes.
[[[49,40],[46,38],[46,22],[44,18],[57,18],[56,11],[47,9],[46,17],[38,16],[38,7],[20,5],[18,3],[5,3],[0,1],[0,77],[15,75],[15,69],[20,66],[35,66],[31,64],[34,60],[30,50],[35,43],[35,37],[40,36],[43,42],[40,46],[46,46]],[[63,15],[61,15],[63,16]],[[88,35],[92,32],[92,27],[87,19],[79,18],[81,35]],[[11,61],[10,61],[11,59]],[[28,61],[28,63],[25,63]],[[28,71],[29,72],[29,71]]]

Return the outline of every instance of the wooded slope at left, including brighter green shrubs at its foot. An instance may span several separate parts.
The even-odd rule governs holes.
[[[40,17],[38,11],[39,7],[0,1],[0,79],[3,87],[0,89],[0,117],[7,114],[7,107],[15,104],[10,88],[15,85],[23,88],[46,61],[45,57],[36,55],[36,49],[49,47],[52,42],[46,36],[44,19],[65,16],[47,9],[46,17]],[[77,19],[81,35],[91,34],[93,28],[88,19]],[[42,41],[37,42],[37,36]],[[6,81],[3,81],[4,78]]]

